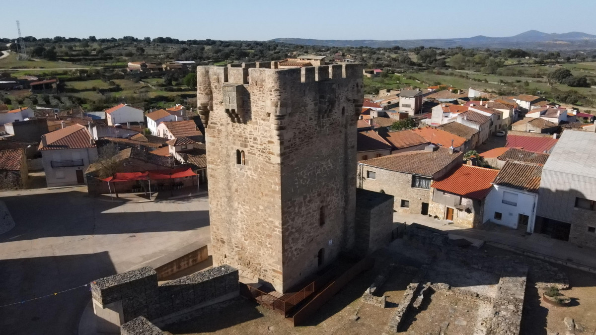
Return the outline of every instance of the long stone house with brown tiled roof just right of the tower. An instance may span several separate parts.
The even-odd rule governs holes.
[[[429,213],[430,185],[463,162],[463,153],[428,145],[358,162],[358,188],[395,197],[393,209],[402,213]]]

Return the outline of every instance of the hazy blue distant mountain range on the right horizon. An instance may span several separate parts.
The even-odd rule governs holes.
[[[271,41],[301,45],[322,46],[370,46],[371,48],[414,48],[416,46],[434,46],[437,48],[524,48],[524,49],[589,49],[596,48],[596,35],[581,32],[543,33],[538,30],[528,30],[515,36],[489,37],[474,36],[470,38],[452,39],[402,39],[395,41],[377,41],[373,39],[336,40],[336,39],[303,39],[276,38]]]

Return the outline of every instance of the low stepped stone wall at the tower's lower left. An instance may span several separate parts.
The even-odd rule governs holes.
[[[167,324],[174,314],[231,299],[238,293],[238,270],[228,265],[195,272],[162,286],[157,285],[157,272],[150,266],[91,283],[95,314],[105,314],[97,308],[110,309],[120,314],[122,323],[145,317]],[[113,309],[114,303],[121,303],[122,308]]]

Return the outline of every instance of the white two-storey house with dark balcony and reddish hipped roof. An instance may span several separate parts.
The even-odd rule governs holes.
[[[48,187],[86,184],[85,170],[97,160],[97,146],[82,125],[42,135],[39,143]]]

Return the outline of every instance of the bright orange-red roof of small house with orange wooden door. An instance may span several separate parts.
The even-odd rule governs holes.
[[[433,182],[431,187],[462,197],[482,200],[491,191],[491,183],[498,173],[499,170],[462,165],[445,178]]]

